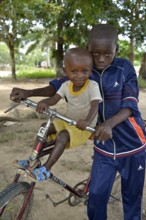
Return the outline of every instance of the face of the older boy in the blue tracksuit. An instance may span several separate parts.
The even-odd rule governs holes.
[[[92,54],[94,66],[101,72],[112,63],[116,45],[112,39],[92,39],[88,44],[88,50]]]

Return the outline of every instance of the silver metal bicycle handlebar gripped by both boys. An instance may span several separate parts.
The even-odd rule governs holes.
[[[30,99],[21,100],[20,103],[23,103],[26,107],[30,107],[32,109],[36,109],[36,107],[37,107],[37,103],[30,100]],[[16,104],[15,106],[9,108],[8,110],[5,111],[5,113],[12,110],[15,107],[17,107],[19,104]],[[55,110],[50,109],[50,108],[48,108],[47,111],[44,111],[43,114],[46,114],[46,115],[49,115],[49,116],[52,116],[52,117],[55,117],[55,118],[59,118],[59,119],[65,121],[65,122],[67,122],[70,125],[76,125],[76,121],[74,121],[74,120],[72,120],[72,119],[70,119],[70,118],[56,112]],[[91,127],[86,127],[86,130],[90,131],[90,132],[95,132],[95,129],[91,128]]]

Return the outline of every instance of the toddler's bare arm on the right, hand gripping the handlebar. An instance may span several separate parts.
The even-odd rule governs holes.
[[[90,107],[90,110],[89,110],[89,113],[86,119],[78,120],[77,125],[76,125],[77,128],[81,130],[85,130],[87,126],[90,126],[91,122],[94,120],[95,116],[97,115],[98,103],[99,103],[99,100],[91,101],[91,107]]]

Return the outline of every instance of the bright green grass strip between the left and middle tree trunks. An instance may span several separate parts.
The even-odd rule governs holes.
[[[18,70],[17,78],[29,78],[29,79],[42,79],[42,78],[55,78],[56,73],[53,69],[29,69],[29,70]]]

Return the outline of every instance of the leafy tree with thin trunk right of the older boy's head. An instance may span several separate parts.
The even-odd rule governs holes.
[[[117,13],[119,23],[122,26],[122,33],[129,40],[129,60],[134,62],[134,48],[144,42],[146,35],[146,7],[144,0],[115,0],[114,4],[118,7]]]

